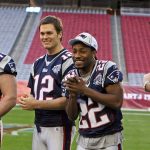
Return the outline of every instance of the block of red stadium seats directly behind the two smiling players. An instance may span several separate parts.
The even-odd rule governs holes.
[[[46,15],[55,15],[62,19],[64,25],[63,45],[66,48],[71,49],[68,45],[69,39],[80,32],[89,32],[94,35],[98,41],[98,58],[112,60],[111,24],[109,15],[43,12],[42,17]],[[42,48],[39,39],[39,30],[37,29],[24,63],[31,64],[37,57],[44,53],[45,50]]]

